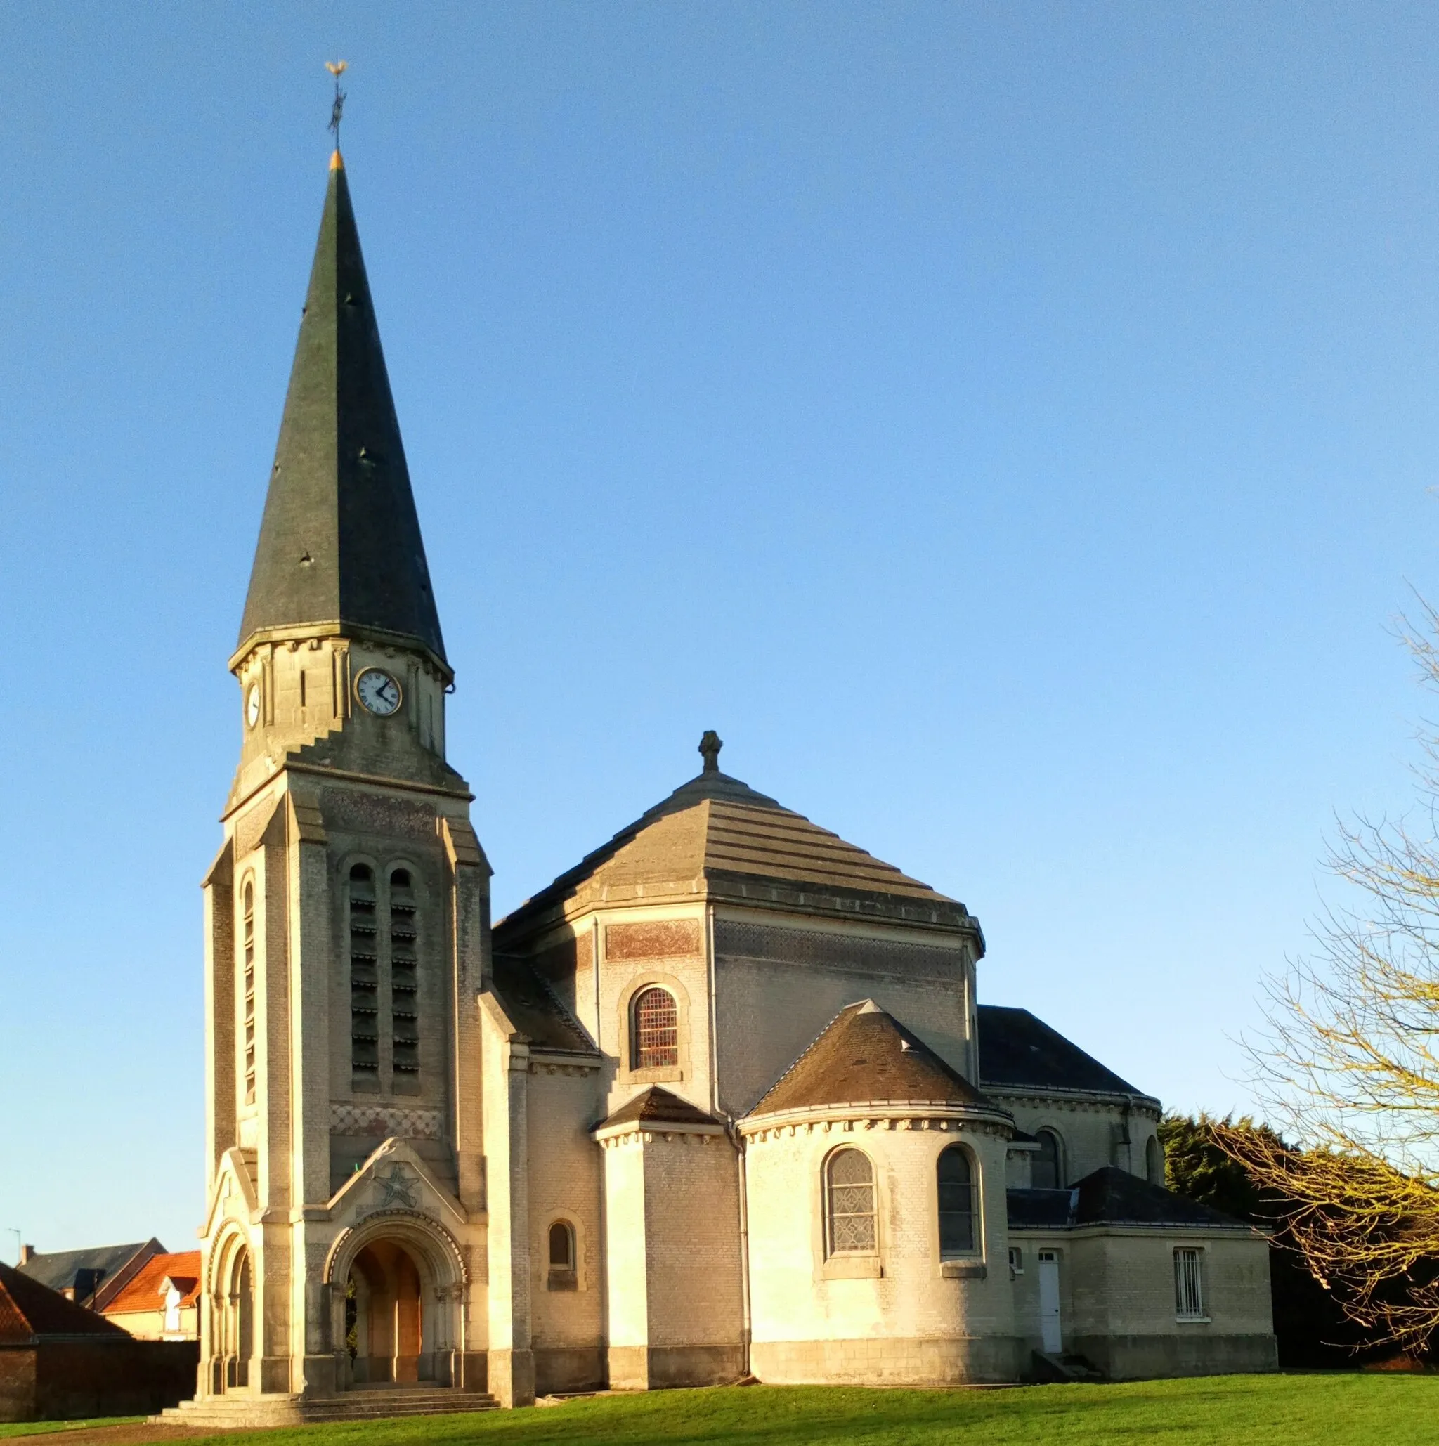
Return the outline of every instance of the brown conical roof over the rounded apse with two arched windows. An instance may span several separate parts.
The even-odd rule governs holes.
[[[969,1105],[999,1112],[874,999],[842,1009],[746,1118],[829,1105]]]

